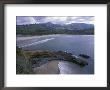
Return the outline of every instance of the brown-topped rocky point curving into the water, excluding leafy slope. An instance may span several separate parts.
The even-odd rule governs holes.
[[[33,64],[33,67],[35,67],[35,64],[37,64],[37,66],[40,66],[42,64],[47,63],[48,61],[53,61],[53,60],[69,61],[69,62],[78,64],[80,66],[88,65],[87,59],[81,58],[81,57],[72,55],[71,53],[63,52],[63,51],[57,51],[57,52],[27,51],[27,53],[28,53],[28,57],[30,57],[31,63]]]

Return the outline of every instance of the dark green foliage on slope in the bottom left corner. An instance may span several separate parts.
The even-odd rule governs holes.
[[[16,46],[16,74],[32,74],[32,64],[24,56],[22,48]]]

